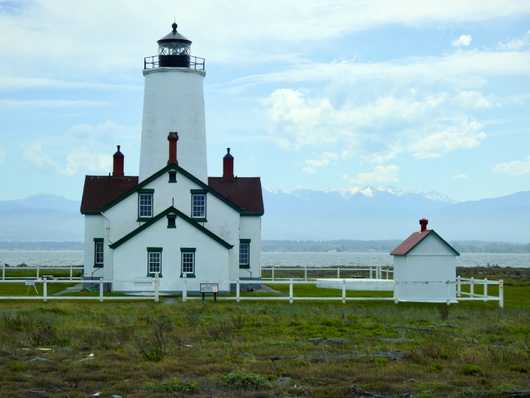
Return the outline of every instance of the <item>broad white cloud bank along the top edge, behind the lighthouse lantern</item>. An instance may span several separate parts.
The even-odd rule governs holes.
[[[177,15],[179,30],[194,41],[197,55],[262,63],[267,54],[277,59],[291,53],[278,50],[286,42],[326,41],[387,24],[476,22],[529,12],[530,4],[520,0],[205,0],[185,7],[162,0],[148,7],[139,0],[34,0],[16,13],[0,13],[0,51],[27,70],[36,59],[77,70],[132,70],[155,52],[155,41]]]

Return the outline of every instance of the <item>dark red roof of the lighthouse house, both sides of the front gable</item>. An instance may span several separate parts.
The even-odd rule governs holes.
[[[81,201],[82,214],[98,214],[138,185],[138,177],[86,176]],[[240,208],[242,214],[262,215],[263,197],[259,177],[208,178],[208,187]]]

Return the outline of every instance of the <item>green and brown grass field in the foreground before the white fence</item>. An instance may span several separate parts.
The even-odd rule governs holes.
[[[504,310],[481,302],[0,303],[0,396],[510,396],[530,389],[530,272],[503,276]]]

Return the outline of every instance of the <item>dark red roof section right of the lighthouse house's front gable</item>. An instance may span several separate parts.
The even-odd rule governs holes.
[[[263,215],[263,196],[259,177],[208,177],[208,185],[242,210],[242,214]]]

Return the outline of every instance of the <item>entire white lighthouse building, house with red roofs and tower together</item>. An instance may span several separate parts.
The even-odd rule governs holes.
[[[112,174],[86,176],[85,276],[115,291],[229,290],[260,277],[263,199],[258,177],[236,177],[227,150],[222,177],[208,177],[204,122],[205,61],[190,55],[177,25],[144,59],[139,176],[124,175],[118,146]]]

